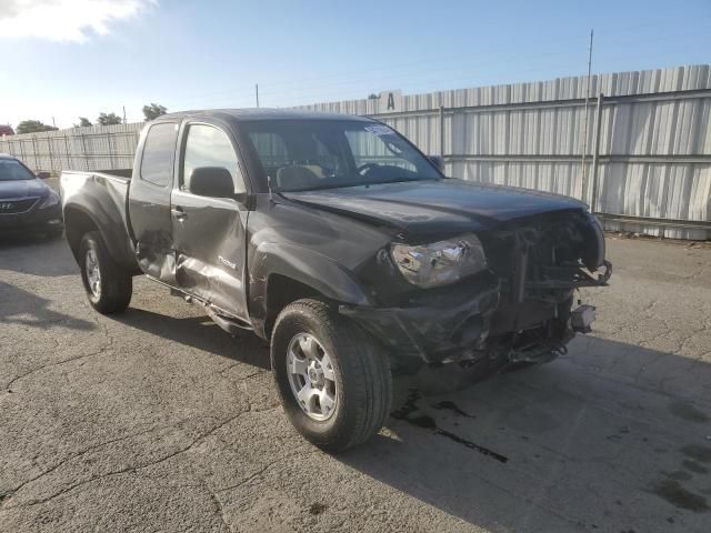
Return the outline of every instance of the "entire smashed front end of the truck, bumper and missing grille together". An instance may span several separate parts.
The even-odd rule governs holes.
[[[547,213],[475,239],[485,269],[445,286],[413,290],[410,283],[403,290],[394,261],[380,254],[377,270],[387,272],[389,283],[381,283],[379,295],[385,303],[342,305],[341,313],[379,339],[395,361],[485,360],[492,369],[550,361],[565,353],[575,332],[590,331],[594,308],[573,310],[574,291],[604,286],[612,272],[594,218],[580,211]],[[454,257],[451,245],[447,253]]]

